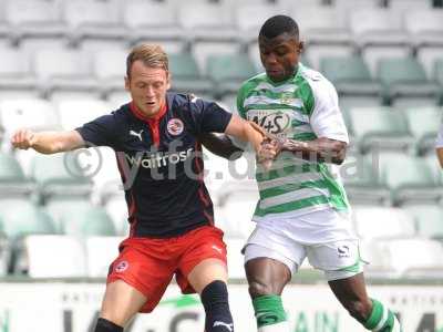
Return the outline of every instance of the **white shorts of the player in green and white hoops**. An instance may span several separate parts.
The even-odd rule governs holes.
[[[309,221],[309,219],[318,221],[319,218],[332,218],[328,221],[337,222],[338,227],[331,231],[319,230],[321,237],[317,237],[316,242],[300,241],[297,234],[291,234],[291,228],[299,229],[300,225],[297,222]],[[331,222],[326,224],[331,225]],[[245,263],[259,257],[271,258],[285,263],[292,273],[297,272],[305,258],[308,257],[310,264],[323,270],[329,281],[349,278],[363,271],[359,240],[352,231],[350,218],[332,209],[289,220],[258,222],[244,252]]]

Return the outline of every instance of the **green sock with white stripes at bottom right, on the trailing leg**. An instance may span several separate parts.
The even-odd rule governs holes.
[[[372,300],[372,312],[363,324],[367,330],[377,332],[401,332],[400,322],[391,310],[381,302]]]

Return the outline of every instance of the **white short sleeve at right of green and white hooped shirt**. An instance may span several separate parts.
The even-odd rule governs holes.
[[[313,111],[310,125],[317,137],[349,143],[348,131],[340,112],[337,91],[324,77],[311,82]]]

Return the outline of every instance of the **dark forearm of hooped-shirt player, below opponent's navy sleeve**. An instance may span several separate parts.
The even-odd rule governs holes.
[[[198,141],[213,154],[229,160],[238,159],[243,153],[225,134],[205,133],[198,136]]]

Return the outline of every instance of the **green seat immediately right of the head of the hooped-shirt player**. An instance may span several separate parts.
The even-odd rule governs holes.
[[[340,97],[380,97],[381,85],[371,77],[368,65],[360,56],[323,58],[320,60],[320,72],[332,81]]]

